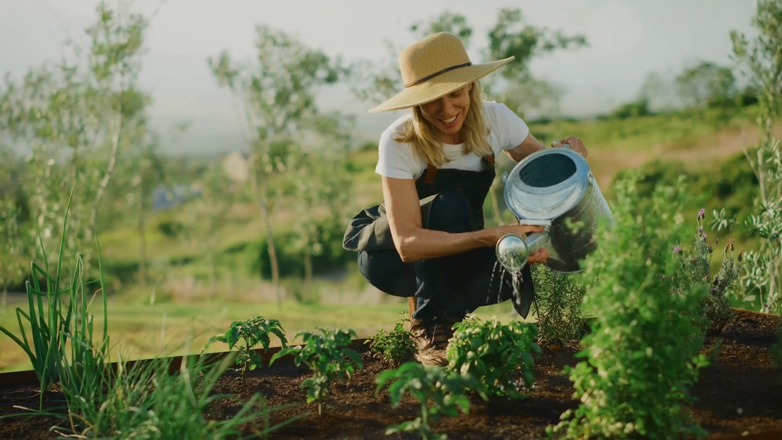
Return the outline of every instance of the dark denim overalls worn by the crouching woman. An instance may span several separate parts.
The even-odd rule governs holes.
[[[494,156],[483,171],[438,169],[429,164],[415,181],[425,229],[466,233],[483,229],[483,202],[494,181]],[[386,294],[415,297],[412,318],[461,319],[475,308],[513,298],[511,274],[495,265],[494,247],[405,263],[394,247],[384,202],[359,212],[348,225],[343,247],[358,252],[364,279]],[[500,276],[500,272],[503,276]],[[511,301],[526,317],[534,287],[529,265],[522,269],[519,296]]]

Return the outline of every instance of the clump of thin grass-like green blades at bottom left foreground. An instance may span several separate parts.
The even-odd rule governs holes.
[[[222,420],[203,417],[210,402],[235,399],[213,392],[224,371],[235,362],[235,353],[222,362],[208,364],[204,357],[186,356],[178,372],[169,373],[169,359],[156,358],[127,366],[119,362],[106,396],[98,401],[70,404],[66,426],[56,427],[60,435],[78,438],[242,438],[242,428],[262,418],[259,435],[298,420],[301,416],[270,426],[264,397],[255,393],[239,402],[238,412]],[[255,411],[258,405],[261,411]]]

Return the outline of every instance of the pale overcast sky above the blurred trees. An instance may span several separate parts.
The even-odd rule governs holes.
[[[92,0],[0,1],[0,72],[18,76],[63,52],[66,38],[83,38],[95,20]],[[151,114],[161,126],[192,123],[171,150],[228,150],[240,126],[227,92],[217,88],[206,58],[227,49],[253,52],[253,27],[267,23],[347,60],[387,56],[384,38],[410,42],[404,27],[450,10],[475,27],[471,56],[504,6],[522,9],[528,23],[584,34],[590,47],[534,60],[533,74],[564,86],[564,114],[606,111],[637,95],[644,76],[672,73],[686,63],[729,63],[732,29],[752,34],[752,0],[137,0],[158,12],[147,35],[142,83],[152,91]],[[369,115],[369,105],[346,93],[321,97],[327,108],[359,114],[360,128],[379,134],[398,114]]]

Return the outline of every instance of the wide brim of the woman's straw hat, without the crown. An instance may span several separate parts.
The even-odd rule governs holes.
[[[429,81],[405,88],[402,92],[396,94],[374,108],[369,113],[380,113],[384,111],[402,110],[409,107],[420,106],[425,103],[431,103],[435,99],[446,96],[472,81],[492,73],[494,70],[503,67],[514,59],[513,56],[504,60],[492,61],[490,63],[475,64],[472,66],[461,67],[456,70],[450,70]]]

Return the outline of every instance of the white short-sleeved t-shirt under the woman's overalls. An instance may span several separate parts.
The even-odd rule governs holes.
[[[490,130],[489,143],[495,157],[502,150],[518,146],[529,135],[527,124],[505,104],[483,101],[483,108]],[[375,172],[379,175],[395,179],[418,179],[426,170],[426,161],[413,152],[410,143],[400,143],[393,139],[393,135],[400,132],[404,121],[411,117],[411,114],[400,117],[380,136],[378,164],[375,167]],[[462,148],[463,144],[443,144],[443,150],[451,161],[439,168],[482,171],[490,166],[473,153],[463,154]]]

